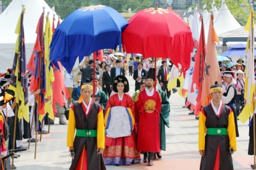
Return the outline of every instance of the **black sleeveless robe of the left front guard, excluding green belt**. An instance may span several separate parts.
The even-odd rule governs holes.
[[[91,110],[89,111],[88,117],[86,118],[85,113],[82,107],[83,103],[74,103],[73,111],[75,115],[76,129],[90,129],[97,130],[97,116],[99,113],[100,105],[96,102],[93,102],[91,105]],[[86,127],[88,123],[88,127]],[[80,159],[80,155],[85,149],[87,150],[87,170],[105,170],[105,163],[102,154],[97,155],[97,137],[78,137],[75,136],[73,143],[75,158],[72,161],[70,170],[76,169],[76,165]]]

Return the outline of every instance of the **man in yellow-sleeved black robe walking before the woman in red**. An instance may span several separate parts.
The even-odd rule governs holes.
[[[103,111],[101,105],[91,99],[91,94],[93,86],[83,84],[80,99],[69,111],[67,147],[75,153],[70,170],[106,169],[102,157],[105,147]]]

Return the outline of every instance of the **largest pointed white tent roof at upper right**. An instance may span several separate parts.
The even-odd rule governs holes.
[[[217,34],[241,28],[241,25],[233,17],[225,3],[222,4],[220,11],[218,12],[214,22],[214,28]]]

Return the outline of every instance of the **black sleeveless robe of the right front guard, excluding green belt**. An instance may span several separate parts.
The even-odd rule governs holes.
[[[230,108],[223,105],[220,118],[217,117],[211,104],[206,105],[204,108],[206,117],[205,127],[220,127],[228,128],[228,118]],[[230,113],[231,114],[231,113]],[[231,170],[233,168],[232,156],[229,153],[229,137],[228,135],[206,135],[205,136],[205,156],[202,156],[200,163],[200,170],[213,170],[217,155],[218,144],[220,144],[220,169]]]

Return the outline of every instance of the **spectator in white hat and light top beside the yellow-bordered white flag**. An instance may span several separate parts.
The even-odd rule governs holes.
[[[236,75],[236,114],[238,116],[240,114],[241,103],[244,103],[244,87],[246,81],[244,80],[244,72],[242,70],[238,70]]]

